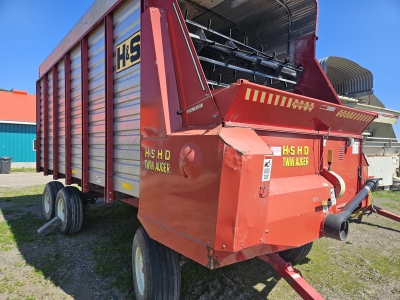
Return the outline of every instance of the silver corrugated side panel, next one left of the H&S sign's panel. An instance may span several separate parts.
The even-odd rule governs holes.
[[[105,186],[104,23],[88,36],[89,182]],[[111,58],[112,60],[112,58]]]

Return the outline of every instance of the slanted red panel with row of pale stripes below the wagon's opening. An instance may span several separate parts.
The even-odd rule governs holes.
[[[226,95],[230,89],[237,90],[235,98]],[[232,92],[229,94],[231,95]],[[377,114],[330,104],[309,97],[240,80],[238,83],[215,93],[217,104],[230,102],[224,122],[254,124],[276,128],[310,130],[315,133],[354,134],[359,136],[377,117]]]

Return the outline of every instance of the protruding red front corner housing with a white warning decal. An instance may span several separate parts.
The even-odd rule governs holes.
[[[222,128],[219,136],[224,146],[214,249],[236,252],[263,243],[272,151],[248,128]]]

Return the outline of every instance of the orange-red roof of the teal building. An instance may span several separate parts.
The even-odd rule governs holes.
[[[36,96],[25,91],[0,91],[0,122],[36,123]]]

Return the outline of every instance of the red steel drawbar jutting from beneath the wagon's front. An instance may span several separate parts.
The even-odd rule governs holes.
[[[258,258],[274,268],[303,299],[324,299],[305,281],[300,271],[294,269],[291,263],[284,261],[277,253],[258,256]]]

